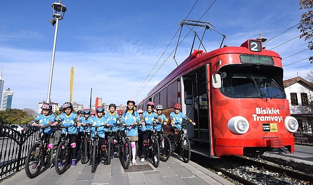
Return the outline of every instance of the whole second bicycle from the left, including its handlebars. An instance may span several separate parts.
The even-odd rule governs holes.
[[[71,126],[59,126],[61,129],[65,129],[65,135],[62,137],[61,143],[58,145],[57,151],[56,151],[56,159],[55,159],[55,168],[56,172],[61,175],[66,170],[69,162],[71,161],[71,153],[72,153],[72,147],[69,143],[69,137],[68,137],[68,129],[70,127],[77,127],[76,125]]]

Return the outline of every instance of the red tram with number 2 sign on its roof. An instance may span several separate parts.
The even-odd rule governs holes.
[[[153,101],[169,116],[175,103],[197,125],[188,126],[191,149],[209,156],[294,152],[290,116],[283,87],[281,57],[258,39],[240,47],[205,53],[194,50],[157,84],[138,109]]]

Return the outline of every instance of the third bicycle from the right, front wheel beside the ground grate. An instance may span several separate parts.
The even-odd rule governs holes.
[[[152,161],[154,167],[158,167],[160,164],[160,146],[158,141],[158,133],[155,131],[157,124],[146,123],[146,126],[152,126],[152,132],[148,133],[147,147],[145,151],[145,159]]]

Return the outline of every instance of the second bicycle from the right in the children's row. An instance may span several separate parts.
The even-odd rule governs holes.
[[[159,137],[158,137],[159,146],[160,146],[160,160],[163,162],[167,162],[167,160],[170,157],[172,148],[171,148],[171,143],[170,143],[169,138],[164,133],[163,124],[162,123],[160,124],[162,125],[161,131],[159,132]]]

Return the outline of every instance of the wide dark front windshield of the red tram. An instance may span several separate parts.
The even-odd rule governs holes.
[[[284,90],[270,76],[264,74],[227,73],[220,90],[234,98],[286,98]]]

